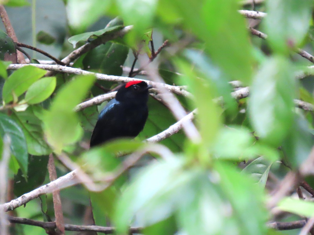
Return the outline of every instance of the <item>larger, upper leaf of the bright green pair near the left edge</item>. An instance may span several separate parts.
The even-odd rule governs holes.
[[[14,96],[22,95],[35,81],[46,74],[46,70],[28,65],[14,71],[4,82],[2,99],[8,103]]]

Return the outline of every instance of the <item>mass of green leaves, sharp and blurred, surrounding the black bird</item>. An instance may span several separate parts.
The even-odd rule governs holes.
[[[236,0],[48,2],[32,2],[42,11],[24,0],[1,3],[19,42],[38,43],[59,59],[84,44],[95,44],[68,66],[111,79],[51,75],[32,65],[6,70],[7,61],[15,63],[16,50],[8,34],[0,31],[0,152],[8,134],[9,182],[14,186],[10,199],[49,182],[49,154],[67,155],[72,162],[64,167],[64,161],[56,161],[57,175],[79,165],[94,183],[61,191],[67,223],[83,224],[91,205],[96,225],[112,224],[119,234],[127,234],[129,227],[142,227],[144,234],[271,234],[266,225],[273,219],[266,206],[273,199],[269,192],[290,170],[309,173],[302,169],[314,143],[314,74],[308,67],[313,57],[310,62],[295,52],[314,52],[313,1],[261,1],[254,6],[267,12],[261,22],[245,19],[238,10],[251,10],[252,5]],[[20,14],[24,19],[33,14],[33,22],[19,25]],[[114,37],[129,25],[133,28],[127,34]],[[265,32],[267,39],[249,35],[247,25]],[[110,40],[99,43],[106,38]],[[43,63],[43,55],[32,57]],[[132,67],[131,72],[126,67]],[[300,74],[306,76],[298,81]],[[116,88],[112,79],[121,80],[119,76],[162,77],[188,95],[175,95],[179,102],[173,102],[174,111],[165,105],[164,95],[152,95],[148,120],[135,140],[89,150],[92,129],[106,103],[78,112],[75,107]],[[230,83],[234,80],[240,88]],[[235,98],[234,91],[246,86],[249,97]],[[296,99],[310,108],[296,107]],[[181,128],[159,144],[146,143],[178,121],[173,112],[180,106],[187,113],[196,109],[195,120],[187,126],[191,132]],[[143,157],[128,165],[136,154]],[[313,187],[312,175],[307,180]],[[95,185],[103,190],[92,191]],[[310,201],[287,197],[275,206],[313,216]],[[53,208],[47,195],[16,212],[47,221],[54,217]],[[25,225],[11,234],[23,234],[20,231],[45,234],[42,228]]]

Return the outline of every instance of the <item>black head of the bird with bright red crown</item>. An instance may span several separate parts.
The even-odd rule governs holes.
[[[123,102],[147,102],[148,90],[152,86],[145,81],[134,80],[123,84],[116,93],[116,100]]]

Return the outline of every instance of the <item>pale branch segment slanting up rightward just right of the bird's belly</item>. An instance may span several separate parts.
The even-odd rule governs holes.
[[[196,113],[196,110],[194,110],[193,112],[190,112],[188,115],[186,115],[180,121],[171,125],[168,129],[164,130],[163,132],[161,132],[157,135],[154,135],[154,136],[146,139],[146,141],[147,142],[160,142],[160,141],[164,140],[165,138],[168,138],[171,135],[179,132],[182,129],[182,123],[186,122],[187,120],[192,121],[195,113]]]

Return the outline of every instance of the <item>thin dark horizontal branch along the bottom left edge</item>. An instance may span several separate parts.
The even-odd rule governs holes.
[[[26,218],[19,218],[8,216],[8,221],[10,223],[17,223],[17,224],[26,224],[31,226],[42,227],[45,229],[55,229],[56,223],[55,222],[42,222],[36,221],[32,219]],[[100,232],[105,234],[112,234],[115,233],[115,227],[102,227],[97,225],[73,225],[73,224],[64,224],[64,228],[66,231],[75,231],[75,232]],[[142,227],[131,227],[129,228],[129,233],[140,233]]]

